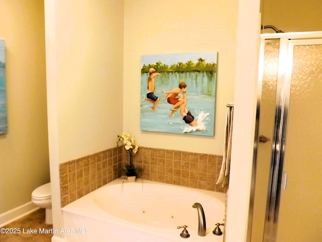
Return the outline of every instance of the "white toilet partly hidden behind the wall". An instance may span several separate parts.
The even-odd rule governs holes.
[[[46,209],[45,223],[52,224],[50,183],[36,188],[31,194],[31,201],[36,206]]]

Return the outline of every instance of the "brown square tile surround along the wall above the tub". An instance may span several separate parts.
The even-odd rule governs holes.
[[[115,147],[59,164],[61,206],[122,176],[129,154]],[[133,155],[134,166],[143,167],[144,179],[225,193],[227,187],[216,185],[222,156],[139,147]]]

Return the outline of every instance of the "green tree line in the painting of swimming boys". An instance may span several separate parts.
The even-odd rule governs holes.
[[[216,72],[217,65],[215,63],[207,63],[205,59],[199,58],[198,62],[188,61],[186,63],[178,62],[169,65],[158,61],[155,64],[143,64],[141,73],[148,73],[150,68],[154,68],[157,72]]]

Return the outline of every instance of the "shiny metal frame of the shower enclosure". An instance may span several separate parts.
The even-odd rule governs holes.
[[[283,162],[285,151],[285,138],[287,131],[287,117],[289,109],[289,98],[291,89],[291,75],[293,66],[293,49],[294,45],[310,44],[314,39],[322,38],[322,31],[315,32],[298,32],[298,33],[278,33],[278,34],[262,34],[261,35],[261,50],[263,51],[264,42],[266,39],[280,39],[279,63],[277,74],[277,89],[275,102],[275,125],[274,136],[272,139],[272,157],[270,164],[270,178],[269,189],[267,195],[267,206],[264,225],[264,242],[275,242],[277,235],[277,223],[279,214],[280,192],[282,187],[283,177]],[[260,70],[263,73],[263,59],[264,56],[260,54]],[[262,66],[261,66],[262,64]],[[261,87],[262,77],[259,76],[259,96],[258,107],[261,102]],[[259,117],[260,108],[257,109],[257,117]],[[256,127],[258,134],[258,125]],[[258,138],[258,137],[256,137]],[[257,147],[255,145],[255,147]],[[254,151],[256,153],[257,150]],[[256,167],[256,159],[254,159],[253,167]],[[254,168],[255,170],[255,168]],[[255,194],[255,177],[256,172],[252,174],[252,190],[251,191],[251,206],[250,214],[253,215],[254,209],[254,194]],[[250,219],[252,220],[252,218]],[[249,231],[250,233],[250,231]]]

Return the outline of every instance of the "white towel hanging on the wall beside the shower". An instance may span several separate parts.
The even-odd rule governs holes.
[[[222,184],[222,187],[227,186],[229,182],[232,118],[233,118],[233,105],[229,105],[228,111],[227,111],[225,144],[223,147],[222,163],[221,163],[219,177],[216,183],[217,185]]]

